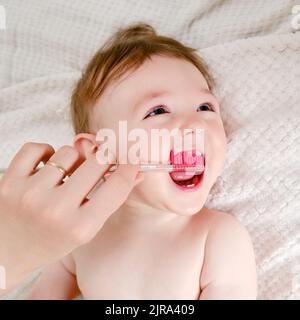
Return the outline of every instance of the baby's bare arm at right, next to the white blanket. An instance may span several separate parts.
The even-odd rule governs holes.
[[[256,299],[255,256],[250,236],[233,216],[220,213],[208,233],[200,300]]]

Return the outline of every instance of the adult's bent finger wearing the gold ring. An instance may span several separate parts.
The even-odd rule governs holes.
[[[49,161],[63,168],[67,175],[72,173],[80,165],[82,159],[75,148],[64,145],[50,157]],[[37,180],[39,185],[52,187],[61,183],[64,177],[65,174],[57,167],[45,164],[45,166],[34,175],[33,179]]]

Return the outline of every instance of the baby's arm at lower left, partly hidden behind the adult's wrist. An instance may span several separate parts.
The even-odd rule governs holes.
[[[71,300],[80,294],[72,254],[47,266],[26,297],[27,300]]]

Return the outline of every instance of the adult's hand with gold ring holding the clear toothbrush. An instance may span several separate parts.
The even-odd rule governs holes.
[[[36,169],[48,160],[71,176],[63,181],[63,171],[52,165]],[[99,164],[96,153],[80,160],[71,146],[55,152],[48,144],[26,143],[18,151],[0,180],[0,265],[6,269],[6,287],[89,242],[143,179],[137,166],[119,165],[88,199],[109,168]]]

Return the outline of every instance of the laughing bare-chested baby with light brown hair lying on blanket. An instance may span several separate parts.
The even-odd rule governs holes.
[[[256,299],[248,232],[230,214],[204,207],[226,149],[212,85],[194,49],[147,24],[119,30],[95,54],[72,95],[80,155],[95,152],[99,129],[118,132],[120,121],[149,135],[199,128],[205,150],[189,151],[200,155],[204,172],[140,174],[96,236],[46,267],[28,299]],[[174,157],[174,144],[160,152],[165,163],[185,163],[184,150]]]

